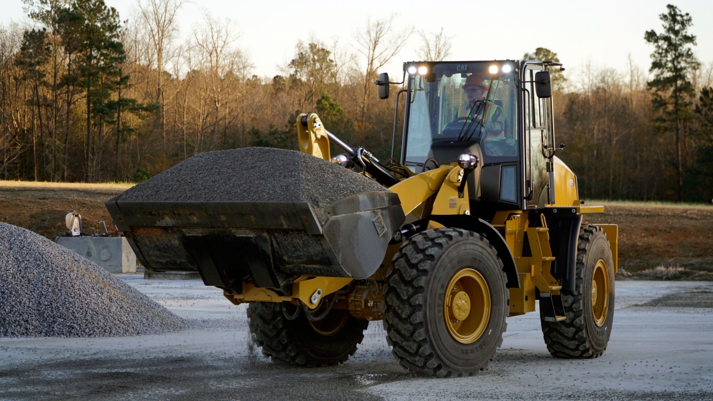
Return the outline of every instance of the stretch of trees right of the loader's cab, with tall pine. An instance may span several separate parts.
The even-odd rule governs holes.
[[[627,73],[585,66],[555,100],[555,130],[570,145],[560,157],[578,175],[580,197],[713,198],[713,63],[693,55],[692,16],[669,4],[660,20],[662,31],[644,34],[650,78],[631,60]]]

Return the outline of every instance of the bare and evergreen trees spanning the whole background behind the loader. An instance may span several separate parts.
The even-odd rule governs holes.
[[[379,101],[376,75],[409,37],[423,60],[451,51],[442,28],[397,28],[389,16],[365,21],[349,43],[298,41],[265,78],[227,19],[205,14],[180,43],[184,0],[139,0],[130,21],[103,0],[24,2],[34,26],[0,27],[0,179],[140,181],[199,152],[296,149],[295,118],[311,111],[389,157],[395,104]],[[560,157],[581,197],[713,197],[711,68],[692,56],[691,16],[669,6],[661,19],[664,31],[645,33],[651,80],[635,66],[585,66],[576,83],[553,71]],[[524,57],[558,61],[546,48]]]

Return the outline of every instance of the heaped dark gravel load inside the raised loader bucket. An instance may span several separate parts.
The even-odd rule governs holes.
[[[332,204],[371,191],[388,189],[302,152],[244,147],[200,153],[111,200]]]

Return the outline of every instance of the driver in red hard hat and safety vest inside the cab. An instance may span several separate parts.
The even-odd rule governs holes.
[[[483,124],[483,150],[486,155],[502,156],[508,153],[511,144],[505,136],[505,122],[503,121],[503,108],[495,103],[485,100],[488,86],[481,75],[473,73],[468,75],[463,84],[463,91],[466,93],[468,103],[458,108],[456,118],[465,121],[466,124],[473,123],[478,132]]]

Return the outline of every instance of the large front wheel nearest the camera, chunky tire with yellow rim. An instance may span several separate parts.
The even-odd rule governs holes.
[[[423,231],[404,241],[386,280],[386,340],[404,368],[461,377],[488,366],[503,343],[510,292],[503,262],[486,239],[463,229]],[[456,310],[463,300],[467,314]]]

